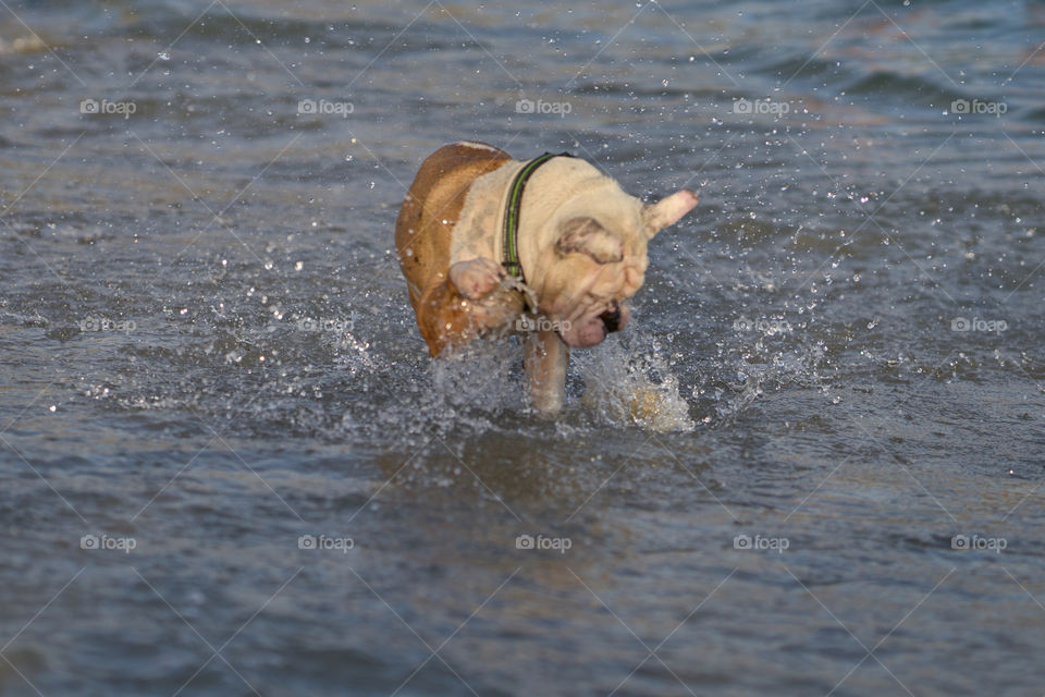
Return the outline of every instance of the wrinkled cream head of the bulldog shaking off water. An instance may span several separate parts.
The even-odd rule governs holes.
[[[558,327],[567,345],[594,346],[630,318],[625,301],[642,286],[647,243],[697,205],[681,189],[642,204],[613,180],[564,203],[544,222],[539,272],[528,274],[539,310]]]

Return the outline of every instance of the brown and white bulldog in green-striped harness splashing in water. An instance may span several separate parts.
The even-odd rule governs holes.
[[[570,348],[628,325],[647,243],[697,205],[681,189],[642,204],[566,154],[515,160],[484,143],[445,145],[421,163],[395,248],[429,352],[525,333],[530,400],[554,415]]]

